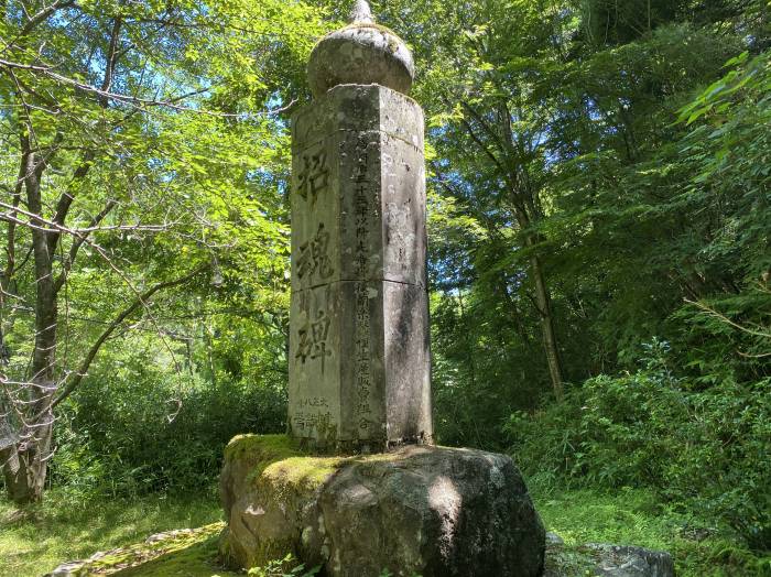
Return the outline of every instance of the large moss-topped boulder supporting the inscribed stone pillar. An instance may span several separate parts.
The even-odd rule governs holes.
[[[236,437],[220,479],[220,552],[254,567],[292,553],[322,575],[541,575],[545,531],[504,455],[431,446],[304,456],[287,437]]]

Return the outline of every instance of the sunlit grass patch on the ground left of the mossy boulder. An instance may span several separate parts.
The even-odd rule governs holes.
[[[131,501],[86,501],[54,490],[43,503],[23,512],[0,499],[0,575],[40,577],[61,563],[86,558],[98,551],[140,543],[154,533],[200,527],[221,519],[214,491],[195,499],[155,496]],[[199,553],[200,544],[193,546],[197,548],[186,553]],[[207,546],[207,551],[211,549],[211,540]]]

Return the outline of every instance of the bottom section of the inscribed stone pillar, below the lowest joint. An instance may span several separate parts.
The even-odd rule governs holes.
[[[341,282],[292,295],[292,318],[308,327],[305,341],[290,341],[295,437],[329,450],[430,442],[426,298],[422,287],[392,282]],[[346,314],[351,302],[356,316]]]

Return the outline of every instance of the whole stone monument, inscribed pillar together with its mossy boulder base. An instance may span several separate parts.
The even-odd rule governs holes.
[[[292,124],[290,435],[225,450],[219,551],[235,566],[291,553],[328,577],[542,571],[511,458],[433,445],[413,76],[363,0],[311,54],[314,101]]]

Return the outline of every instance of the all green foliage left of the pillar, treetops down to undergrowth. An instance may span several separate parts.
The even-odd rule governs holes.
[[[286,85],[321,14],[276,0],[0,4],[0,337],[3,383],[22,383],[0,390],[0,428],[45,417],[26,402],[28,360],[48,311],[41,402],[70,424],[56,482],[198,487],[237,428],[282,426],[289,140],[271,109],[303,92]],[[37,220],[61,235],[45,275],[61,284],[43,300]]]

